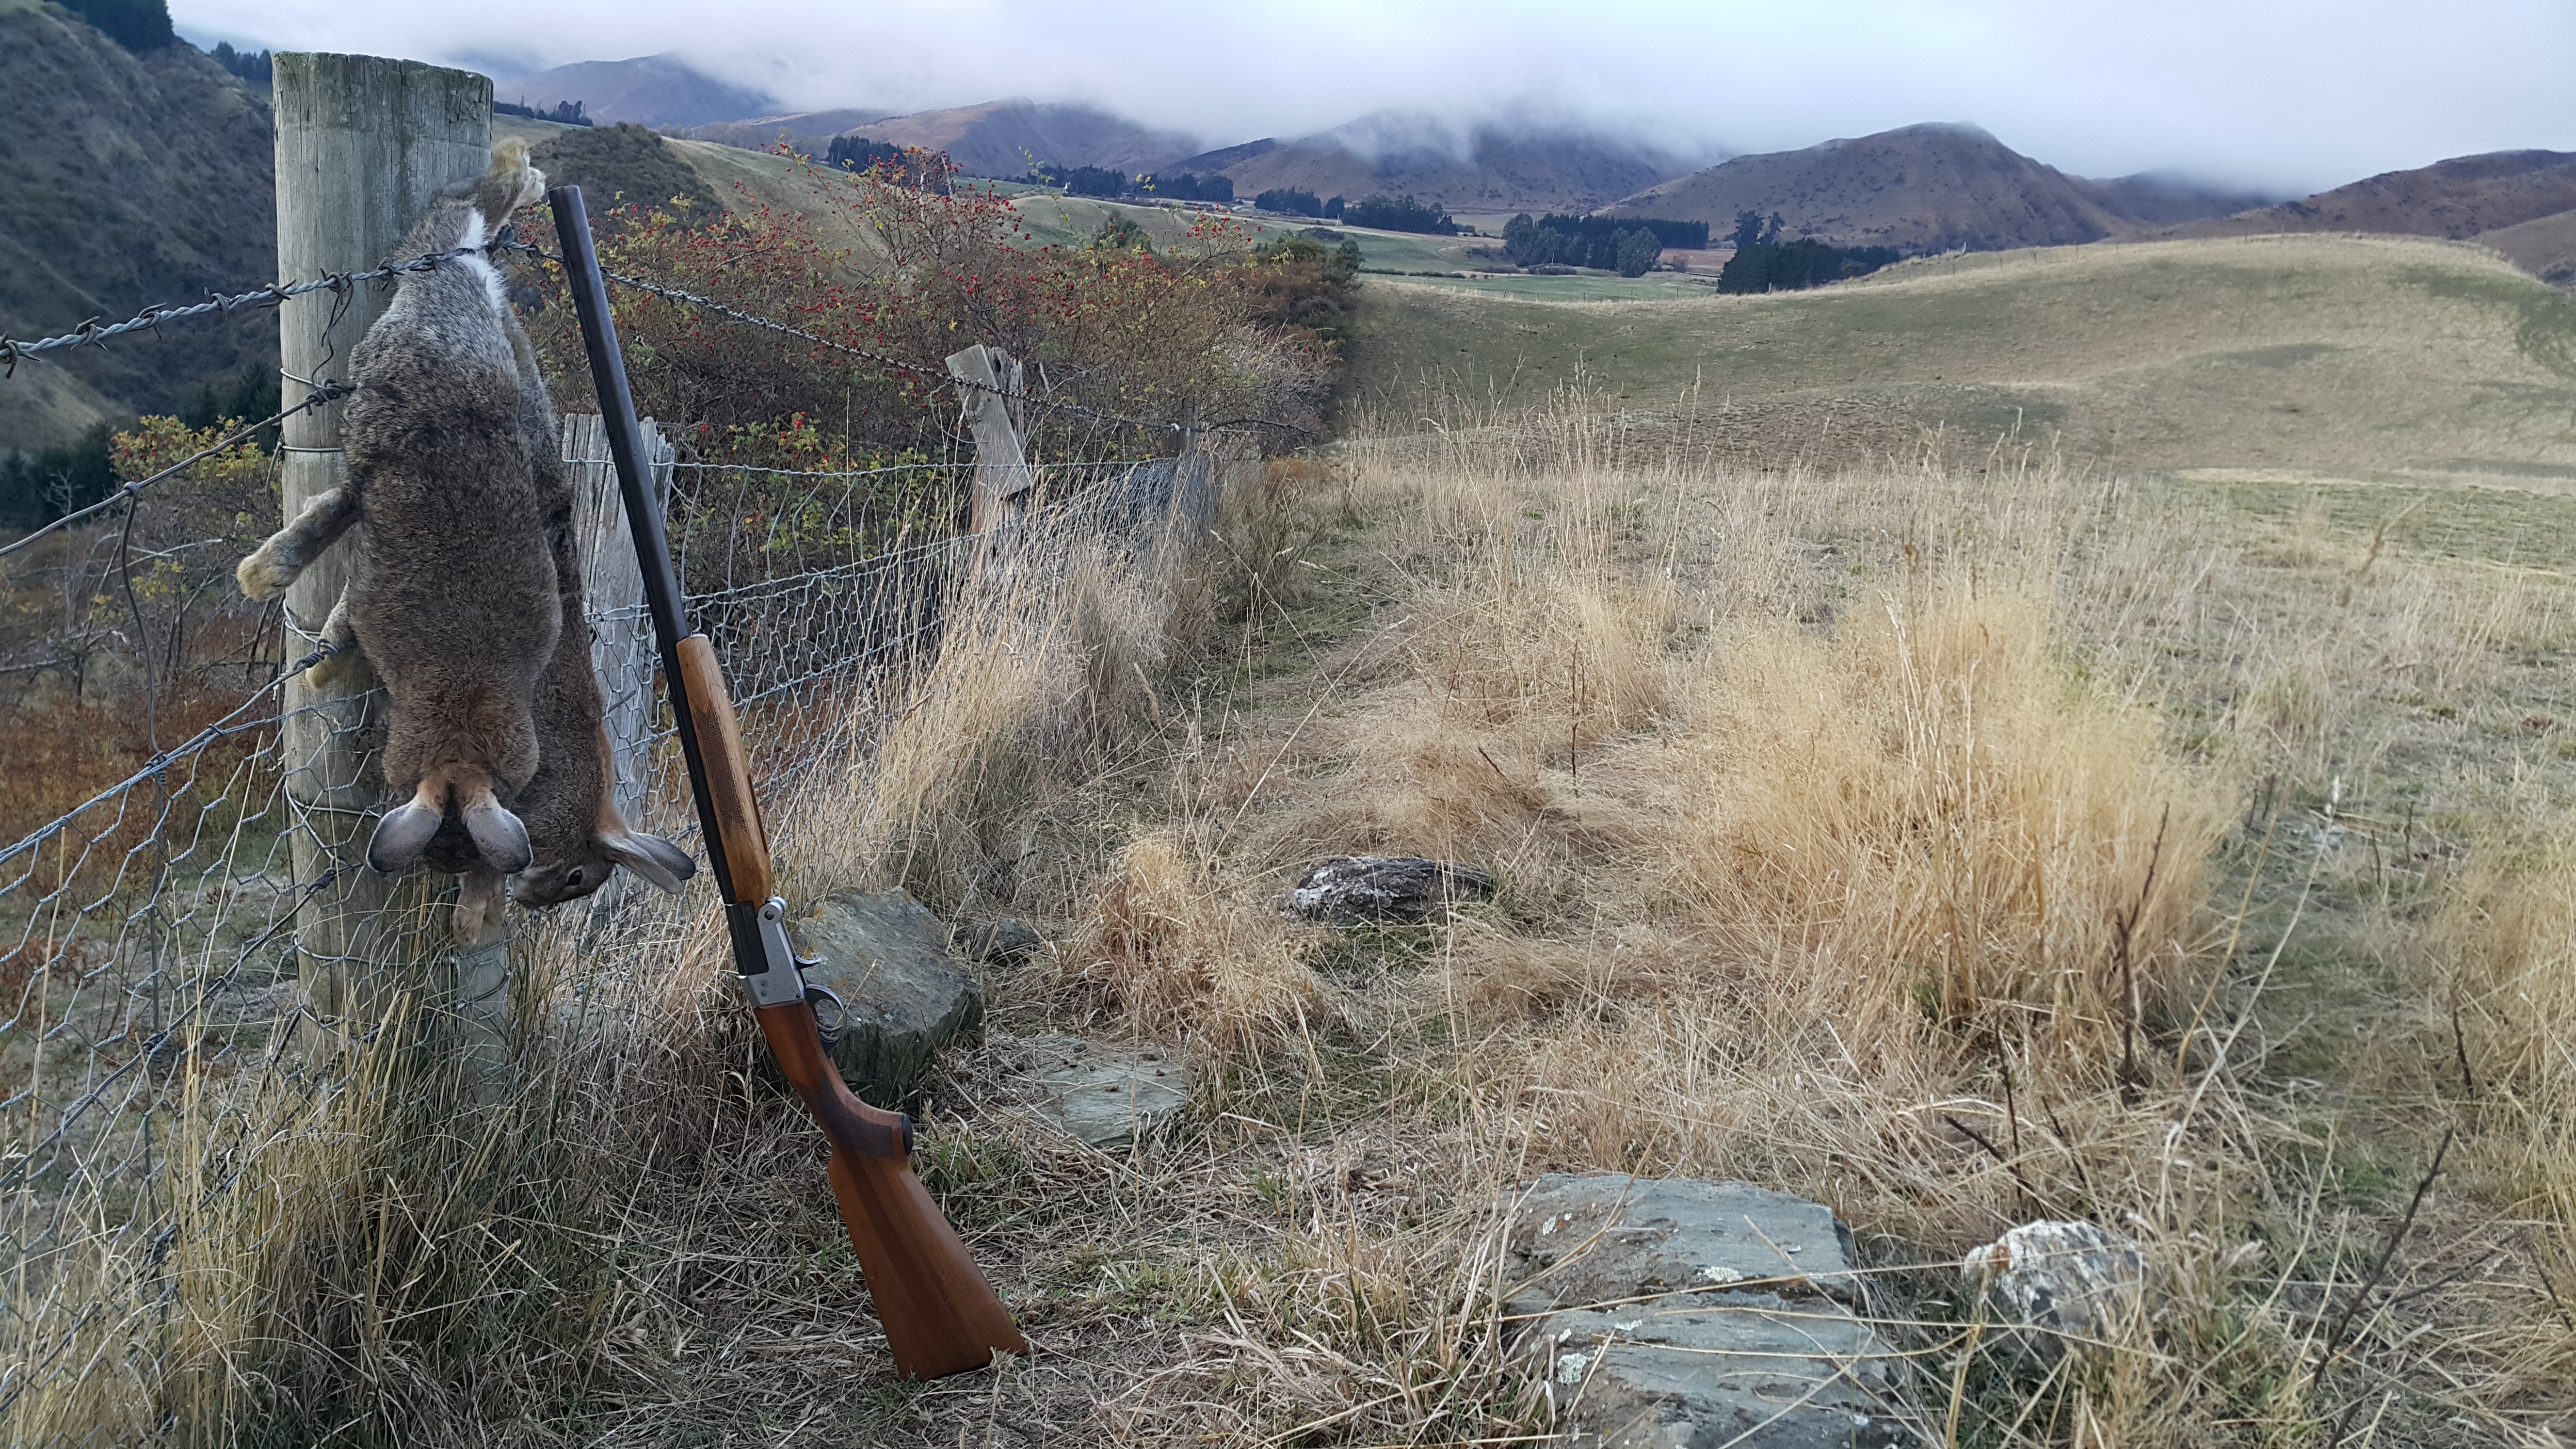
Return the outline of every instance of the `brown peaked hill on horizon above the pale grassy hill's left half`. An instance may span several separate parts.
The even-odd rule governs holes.
[[[1795,152],[1739,155],[1607,206],[1723,232],[1736,211],[1777,211],[1783,237],[1909,253],[2063,248],[2148,224],[2218,217],[2259,196],[2174,173],[2087,180],[1976,126],[1901,126]]]

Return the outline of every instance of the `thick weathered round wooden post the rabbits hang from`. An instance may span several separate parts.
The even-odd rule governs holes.
[[[278,54],[273,62],[278,126],[278,276],[368,271],[394,253],[430,196],[477,175],[492,160],[492,83],[464,70],[363,54]],[[278,353],[286,397],[309,384],[348,382],[348,356],[384,315],[392,289],[312,291],[278,309]],[[340,405],[286,420],[278,492],[286,518],[345,480]],[[286,590],[286,657],[312,652],[330,606],[348,580],[348,557],[332,549]],[[314,688],[286,683],[281,758],[296,807],[296,884],[322,884],[296,910],[296,951],[314,1008],[374,1018],[402,982],[374,982],[379,964],[407,936],[443,923],[422,920],[422,890],[399,892],[366,869],[384,779],[384,696],[371,681]],[[392,910],[389,910],[392,908]],[[482,962],[479,975],[492,975]],[[489,995],[489,982],[459,982],[461,995]]]

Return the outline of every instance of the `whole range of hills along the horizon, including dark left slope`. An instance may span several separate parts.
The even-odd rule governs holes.
[[[500,93],[544,108],[582,101],[603,121],[649,121],[734,147],[762,147],[781,131],[809,152],[835,134],[935,144],[984,175],[1015,178],[1046,160],[1221,173],[1236,196],[1412,191],[1481,224],[1520,209],[1605,209],[1705,219],[1723,232],[1739,211],[1777,211],[1793,237],[1904,250],[2403,232],[2478,242],[2576,286],[2571,152],[2455,157],[2277,201],[2172,173],[2089,180],[1973,126],[1904,126],[1690,170],[1649,142],[1579,126],[1461,134],[1404,113],[1221,150],[1095,106],[1038,101],[907,116],[871,106],[783,113],[768,95],[708,80],[680,57],[559,67],[507,80]],[[644,139],[585,134],[582,157],[600,152],[590,160],[608,165],[611,152]],[[567,175],[580,170],[569,152],[562,160]],[[57,5],[0,0],[0,335],[62,333],[85,317],[129,317],[147,302],[268,281],[273,196],[270,108],[258,90],[188,44],[137,54]],[[0,384],[0,446],[54,443],[98,420],[170,410],[198,384],[273,366],[273,348],[276,327],[252,312],[129,345],[23,358]]]

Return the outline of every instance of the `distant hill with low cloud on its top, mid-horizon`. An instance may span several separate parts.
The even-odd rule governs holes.
[[[1291,142],[1200,152],[1172,162],[1172,170],[1229,175],[1244,199],[1270,188],[1347,199],[1383,191],[1450,211],[1497,214],[1589,211],[1682,173],[1685,162],[1641,142],[1574,129],[1481,126],[1458,137],[1427,116],[1381,111]]]

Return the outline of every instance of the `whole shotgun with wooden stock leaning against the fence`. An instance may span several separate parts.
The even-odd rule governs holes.
[[[1002,1297],[984,1281],[956,1227],[912,1176],[912,1119],[858,1101],[822,1049],[814,1003],[788,946],[786,900],[773,895],[770,838],[752,797],[734,704],[724,691],[714,645],[688,629],[680,578],[670,567],[670,541],[662,531],[662,500],[644,482],[644,438],[636,428],[634,394],[626,389],[626,361],[618,356],[618,330],[608,315],[608,284],[600,278],[582,188],[556,186],[546,201],[554,206],[564,276],[582,320],[582,345],[590,351],[590,382],[598,387],[600,420],[608,428],[608,456],[618,469],[626,523],[644,570],[644,603],[662,645],[662,686],[670,691],[672,724],[688,758],[688,789],[698,802],[716,890],[724,895],[734,967],[742,972],[752,1018],[770,1055],[832,1140],[832,1196],[850,1227],[850,1245],[858,1248],[858,1266],[876,1299],[876,1318],[886,1328],[894,1366],[907,1379],[938,1379],[981,1369],[992,1364],[994,1351],[1028,1354],[1028,1341],[1010,1323]]]

